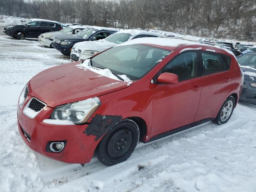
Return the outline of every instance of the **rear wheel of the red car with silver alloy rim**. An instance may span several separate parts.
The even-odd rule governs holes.
[[[228,122],[230,117],[232,116],[233,110],[235,108],[235,99],[233,96],[229,96],[218,112],[216,119],[213,120],[216,124],[224,124]]]

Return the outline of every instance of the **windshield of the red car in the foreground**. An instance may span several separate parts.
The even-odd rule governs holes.
[[[108,68],[116,74],[125,74],[130,80],[138,80],[169,54],[170,50],[134,44],[106,50],[92,58],[91,63],[94,67]]]

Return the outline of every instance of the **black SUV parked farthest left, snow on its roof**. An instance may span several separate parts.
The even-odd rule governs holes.
[[[42,33],[62,29],[60,22],[44,19],[30,19],[19,24],[8,24],[4,26],[4,33],[18,40],[24,40],[25,38],[38,38]]]

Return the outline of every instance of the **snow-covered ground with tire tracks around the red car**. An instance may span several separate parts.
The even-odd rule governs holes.
[[[0,190],[3,192],[255,192],[256,106],[239,104],[229,122],[212,122],[139,143],[123,163],[107,167],[95,157],[58,162],[32,151],[19,135],[18,96],[36,73],[68,62],[37,41],[18,41],[0,24]]]

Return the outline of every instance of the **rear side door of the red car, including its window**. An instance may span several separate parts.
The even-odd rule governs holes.
[[[200,51],[202,56],[202,93],[195,121],[215,118],[233,88],[229,56]]]

